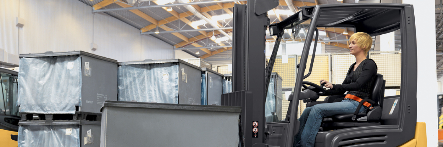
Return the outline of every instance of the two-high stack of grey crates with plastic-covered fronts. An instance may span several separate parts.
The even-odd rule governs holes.
[[[117,100],[117,60],[83,51],[19,57],[19,147],[100,146],[92,140],[101,105]]]

